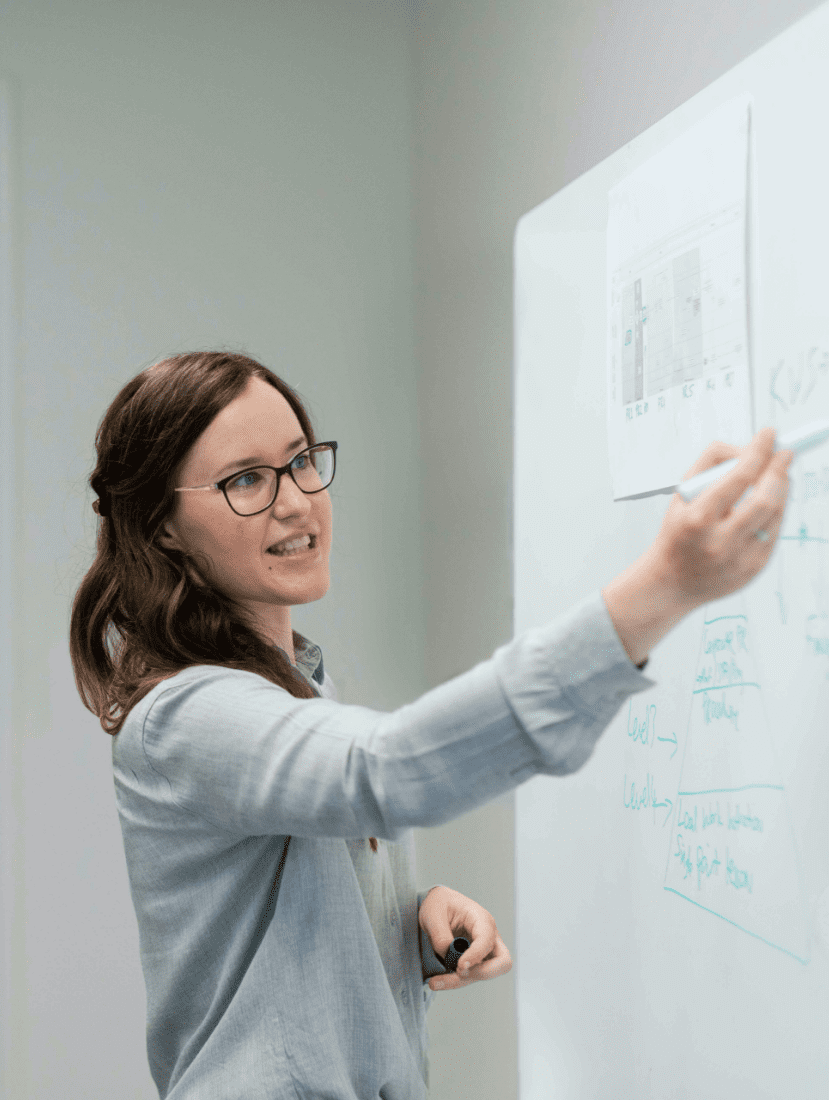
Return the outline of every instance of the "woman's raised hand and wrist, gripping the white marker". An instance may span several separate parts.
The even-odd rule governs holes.
[[[715,442],[685,480],[728,459],[734,469],[686,504],[675,493],[653,543],[604,590],[616,631],[635,664],[695,607],[737,592],[769,561],[788,498],[793,451],[774,452],[763,428],[748,447]],[[745,491],[751,488],[749,495]],[[765,531],[766,539],[758,538]]]

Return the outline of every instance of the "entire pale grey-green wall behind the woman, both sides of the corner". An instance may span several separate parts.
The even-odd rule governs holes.
[[[109,399],[194,346],[284,373],[342,448],[332,588],[297,627],[346,702],[397,706],[465,671],[511,635],[518,217],[811,7],[2,0],[19,316],[7,1097],[155,1096],[110,741],[66,640]],[[509,796],[419,831],[419,882],[475,898],[512,946],[512,849]],[[516,1096],[513,989],[435,999],[435,1100]]]

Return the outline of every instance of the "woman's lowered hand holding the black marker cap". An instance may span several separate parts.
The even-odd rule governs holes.
[[[463,934],[469,941],[457,961],[457,970],[430,978],[430,989],[463,989],[473,981],[498,978],[512,969],[512,957],[493,914],[457,890],[433,887],[418,911],[418,923],[440,959],[456,936]]]

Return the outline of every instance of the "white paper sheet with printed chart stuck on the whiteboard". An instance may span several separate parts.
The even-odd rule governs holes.
[[[682,481],[751,436],[750,102],[692,128],[608,196],[608,436],[615,499]]]

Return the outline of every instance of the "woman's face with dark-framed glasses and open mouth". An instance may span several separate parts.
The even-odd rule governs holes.
[[[174,484],[207,485],[245,466],[284,466],[308,446],[279,391],[262,378],[251,378],[246,389],[196,440]],[[175,496],[159,537],[162,546],[206,554],[209,583],[247,607],[265,635],[286,648],[289,608],[320,600],[329,588],[328,490],[303,493],[283,474],[276,501],[257,516],[237,516],[219,490]],[[310,550],[288,557],[268,553],[275,543],[306,534],[312,536]],[[292,646],[288,651],[292,652]]]

